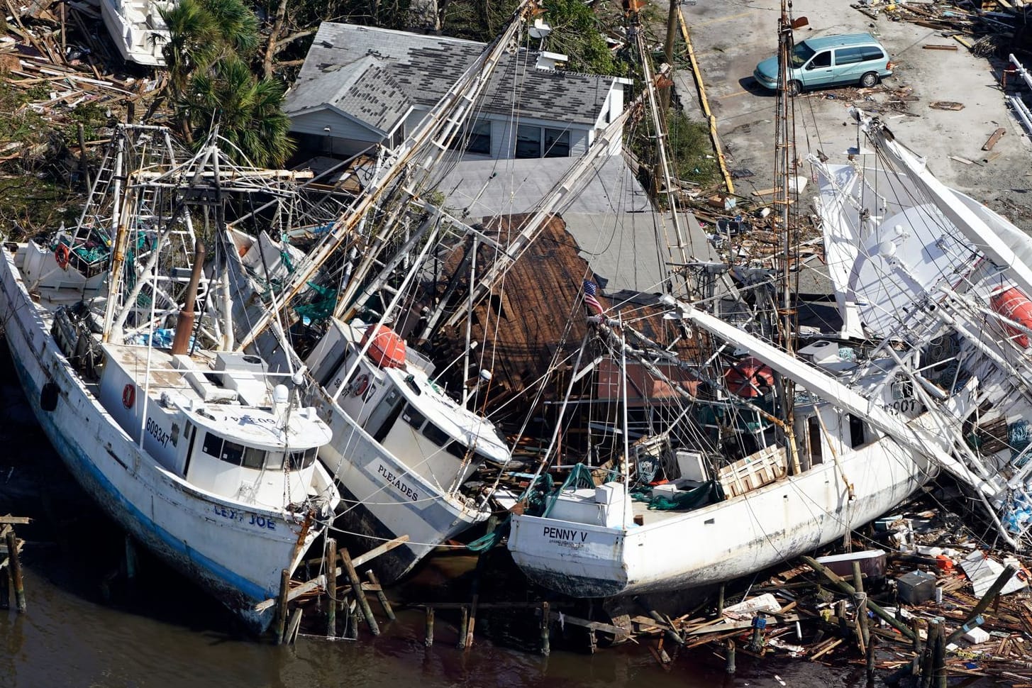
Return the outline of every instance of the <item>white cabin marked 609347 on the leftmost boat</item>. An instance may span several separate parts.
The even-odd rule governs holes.
[[[304,501],[318,448],[315,408],[291,408],[257,356],[173,356],[104,345],[100,402],[165,469],[193,486],[259,505]]]

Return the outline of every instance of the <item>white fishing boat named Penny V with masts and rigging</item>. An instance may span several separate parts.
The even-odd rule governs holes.
[[[782,65],[793,26],[783,6]],[[773,227],[787,238],[798,199],[781,78]],[[890,342],[800,340],[784,247],[780,265],[722,294],[683,271],[660,294],[607,306],[585,281],[591,333],[569,378],[591,384],[580,396],[569,385],[530,488],[513,495],[508,549],[529,580],[574,597],[729,581],[841,539],[950,461]],[[588,436],[574,445],[569,419],[583,427],[585,414]]]

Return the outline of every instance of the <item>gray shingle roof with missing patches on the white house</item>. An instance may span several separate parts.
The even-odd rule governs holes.
[[[396,103],[392,92],[397,88],[415,105],[429,108],[484,47],[485,43],[447,36],[323,22],[287,95],[286,109],[296,113],[329,102],[343,80],[373,65],[390,76],[390,80],[362,79],[364,88],[379,92],[378,101],[385,106]],[[508,53],[485,89],[481,110],[593,126],[614,77],[538,69],[537,59],[537,53],[525,50]]]

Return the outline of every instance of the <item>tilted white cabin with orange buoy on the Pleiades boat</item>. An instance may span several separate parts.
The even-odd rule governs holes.
[[[484,461],[507,463],[511,454],[494,425],[449,397],[429,376],[432,364],[406,349],[397,334],[381,326],[373,335],[374,328],[334,319],[308,358],[313,376],[341,409],[414,472],[444,488],[461,485]]]

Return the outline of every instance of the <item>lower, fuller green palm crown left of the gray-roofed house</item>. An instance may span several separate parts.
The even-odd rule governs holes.
[[[191,139],[204,140],[216,125],[223,138],[236,146],[238,162],[276,167],[293,152],[287,135],[290,118],[283,111],[286,90],[271,78],[259,79],[235,55],[195,73],[180,99],[184,120],[191,123]]]

